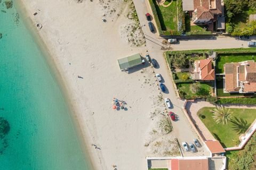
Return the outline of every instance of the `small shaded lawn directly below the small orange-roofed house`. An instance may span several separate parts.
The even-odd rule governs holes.
[[[185,96],[186,99],[195,99],[200,97],[207,97],[210,95],[211,85],[209,83],[197,83],[200,85],[200,90],[197,94],[194,94],[191,89],[190,85],[193,83],[177,83],[177,87],[179,89],[180,95]]]

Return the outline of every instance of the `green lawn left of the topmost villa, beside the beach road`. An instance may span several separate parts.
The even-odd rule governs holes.
[[[173,0],[168,7],[158,6],[154,0],[158,19],[163,31],[176,31],[177,25],[177,0]]]

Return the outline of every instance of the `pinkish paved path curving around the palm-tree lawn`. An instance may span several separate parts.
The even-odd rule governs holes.
[[[204,100],[195,100],[195,101],[188,101],[186,105],[186,109],[188,112],[188,115],[190,116],[191,120],[197,127],[199,133],[201,133],[201,136],[204,138],[204,140],[214,140],[215,138],[211,134],[211,132],[206,128],[204,123],[200,120],[200,118],[197,116],[197,112],[203,108],[203,107],[215,107],[216,105],[212,105],[209,102],[206,102]],[[223,105],[228,108],[251,108],[256,109],[256,106],[246,106],[246,105]]]

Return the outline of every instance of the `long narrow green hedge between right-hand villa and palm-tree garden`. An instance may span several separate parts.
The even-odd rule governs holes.
[[[218,104],[255,105],[256,97],[219,98]]]

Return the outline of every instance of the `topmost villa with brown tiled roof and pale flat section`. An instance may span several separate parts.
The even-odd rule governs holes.
[[[224,4],[221,0],[182,0],[183,11],[189,12],[191,25],[225,29]]]

